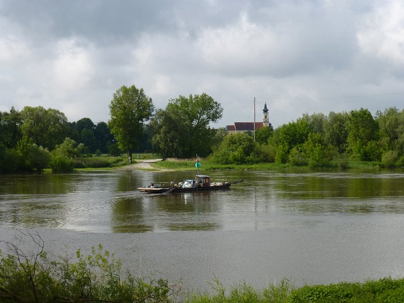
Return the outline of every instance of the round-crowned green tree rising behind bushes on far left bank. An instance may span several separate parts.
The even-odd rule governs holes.
[[[33,142],[52,150],[63,142],[68,122],[64,113],[55,109],[44,109],[41,106],[26,106],[21,111],[23,135],[32,138]]]

